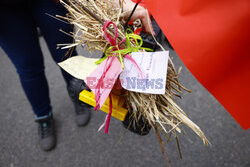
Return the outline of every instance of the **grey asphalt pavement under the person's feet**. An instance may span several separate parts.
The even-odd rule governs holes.
[[[167,166],[155,133],[138,136],[111,119],[108,135],[97,132],[105,114],[92,111],[86,127],[74,122],[73,105],[59,68],[51,59],[44,40],[53,112],[57,123],[57,147],[43,152],[37,145],[37,125],[14,66],[0,49],[0,166],[1,167],[91,167]],[[85,52],[84,52],[85,53]],[[183,66],[171,51],[177,67]],[[202,69],[201,69],[202,70]],[[193,92],[185,93],[179,105],[198,124],[212,143],[206,147],[188,127],[180,135],[183,159],[176,142],[166,144],[173,167],[250,167],[250,131],[244,131],[230,114],[184,68],[182,83]],[[229,90],[230,91],[230,90]],[[39,95],[38,95],[39,96]]]

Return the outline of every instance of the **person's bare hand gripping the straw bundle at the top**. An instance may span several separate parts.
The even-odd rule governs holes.
[[[122,1],[122,0],[120,0],[120,1]],[[115,3],[117,6],[120,6],[119,0],[115,0]],[[132,12],[134,6],[135,6],[135,3],[132,2],[131,0],[124,0],[123,11],[124,12],[126,12],[126,11]],[[131,12],[126,12],[125,18],[128,18]],[[151,20],[149,20],[149,22],[148,22],[147,15],[148,15],[147,9],[138,5],[133,16],[131,17],[131,21],[134,21],[136,19],[140,19],[142,21],[143,26],[144,26],[144,30],[151,34],[150,27],[153,30],[152,23],[151,23]]]

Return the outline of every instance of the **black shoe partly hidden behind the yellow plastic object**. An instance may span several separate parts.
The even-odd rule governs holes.
[[[90,120],[91,106],[78,99],[79,94],[84,89],[86,89],[86,85],[80,79],[73,78],[68,85],[68,93],[75,106],[76,123],[78,126],[85,126]]]

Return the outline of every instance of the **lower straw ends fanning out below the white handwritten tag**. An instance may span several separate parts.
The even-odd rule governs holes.
[[[160,127],[164,134],[173,134],[175,131],[181,133],[179,127],[181,124],[185,124],[202,139],[205,145],[208,145],[209,141],[201,129],[192,122],[185,112],[174,102],[174,96],[181,96],[183,90],[190,92],[179,83],[178,75],[179,73],[176,73],[170,61],[168,65],[166,92],[164,95],[127,91],[127,103],[133,109],[135,117],[145,117],[152,127]]]

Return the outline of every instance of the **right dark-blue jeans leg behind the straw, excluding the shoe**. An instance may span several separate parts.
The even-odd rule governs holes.
[[[33,1],[32,10],[33,17],[44,36],[54,61],[59,63],[69,56],[76,56],[75,49],[67,54],[67,49],[57,48],[57,44],[73,43],[72,37],[59,31],[62,29],[65,32],[73,32],[73,26],[51,17],[65,16],[66,9],[60,3],[56,3],[56,0],[36,0]],[[68,85],[72,76],[64,70],[62,70],[62,74]]]

